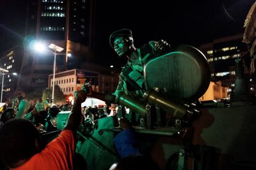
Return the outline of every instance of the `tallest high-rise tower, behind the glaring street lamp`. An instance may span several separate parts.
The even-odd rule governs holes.
[[[64,49],[56,57],[56,73],[68,68],[79,68],[77,63],[90,61],[90,0],[28,0],[26,44],[21,63],[19,87],[43,91],[48,86],[48,75],[53,73],[54,55],[32,50],[33,42],[56,44]],[[69,59],[67,54],[72,54]]]

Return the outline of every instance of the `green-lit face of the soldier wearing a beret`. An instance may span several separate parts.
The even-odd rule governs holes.
[[[117,37],[114,39],[114,51],[116,51],[117,55],[120,57],[124,55],[129,50],[129,46],[127,45],[127,40],[123,37]]]

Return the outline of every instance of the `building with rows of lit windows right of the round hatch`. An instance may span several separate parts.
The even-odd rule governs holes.
[[[213,42],[202,44],[198,49],[205,54],[211,70],[211,81],[222,81],[223,86],[232,89],[236,79],[237,57],[247,52],[242,42],[243,34],[213,39]]]

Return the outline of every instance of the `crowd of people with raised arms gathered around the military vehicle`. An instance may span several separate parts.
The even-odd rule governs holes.
[[[52,105],[46,107],[43,103],[30,105],[27,99],[14,99],[12,107],[3,107],[0,113],[0,169],[74,169],[81,165],[73,164],[75,157],[75,132],[82,120],[100,119],[109,116],[111,110],[107,108],[82,107],[87,94],[82,90],[75,92],[74,105]],[[47,145],[42,145],[41,133],[58,131],[56,127],[56,117],[60,111],[70,111],[66,127],[61,131],[56,139],[51,140]],[[111,116],[116,116],[111,114]],[[132,136],[129,121],[121,121],[121,132],[114,140],[121,158],[122,164],[135,159],[140,155],[139,149],[132,146],[124,149],[122,147],[122,136]],[[130,138],[132,143],[135,140]],[[129,143],[129,142],[128,142]],[[131,144],[132,144],[131,143]],[[121,148],[120,148],[121,147]],[[128,148],[128,149],[127,149]],[[129,150],[129,152],[125,151]],[[111,169],[118,169],[118,164],[113,163]],[[83,165],[84,166],[84,165]]]

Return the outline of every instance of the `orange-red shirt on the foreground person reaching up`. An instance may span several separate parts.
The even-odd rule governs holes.
[[[73,155],[75,153],[74,134],[70,130],[63,130],[61,134],[26,163],[13,169],[73,169]]]

